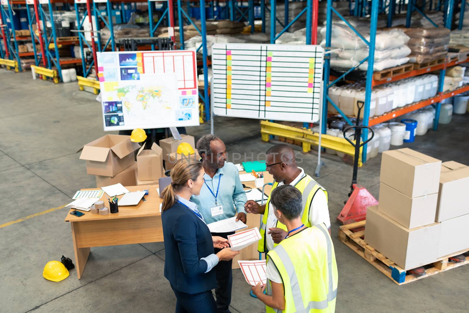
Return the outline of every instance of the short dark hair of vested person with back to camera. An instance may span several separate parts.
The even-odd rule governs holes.
[[[270,203],[288,220],[300,216],[303,206],[301,192],[292,185],[275,188],[270,195]]]

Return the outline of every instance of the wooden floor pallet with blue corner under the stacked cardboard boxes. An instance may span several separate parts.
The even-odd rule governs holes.
[[[385,255],[376,251],[373,247],[367,244],[362,237],[365,235],[365,221],[358,221],[348,225],[339,227],[339,239],[341,242],[346,244],[350,249],[355,251],[363,259],[367,260],[372,266],[378,268],[378,270],[389,277],[393,282],[398,285],[403,285],[408,282],[414,282],[421,278],[429,277],[431,275],[438,274],[440,272],[447,271],[454,267],[460,267],[461,265],[469,263],[469,251],[468,249],[462,250],[450,255],[446,255],[443,258],[439,258],[432,264],[424,266],[427,274],[424,276],[416,277],[411,274],[406,274],[406,271],[394,264],[393,261],[386,258]],[[466,260],[460,263],[448,262],[448,258],[463,254]]]

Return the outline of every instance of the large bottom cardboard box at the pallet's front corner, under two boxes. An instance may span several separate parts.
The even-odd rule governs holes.
[[[440,223],[407,229],[378,211],[378,206],[366,210],[365,241],[404,270],[435,262]]]

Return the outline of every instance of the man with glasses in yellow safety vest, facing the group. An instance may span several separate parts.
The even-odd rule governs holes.
[[[296,166],[295,152],[289,145],[274,145],[266,152],[265,168],[275,180],[272,191],[281,185],[295,186],[302,193],[301,220],[306,227],[324,223],[326,228],[331,228],[329,219],[329,209],[327,207],[327,191],[319,185],[311,176],[304,173],[303,168]],[[264,214],[261,223],[260,233],[262,239],[259,240],[257,250],[259,252],[269,252],[287,236],[287,227],[278,221],[272,208],[270,199],[264,206],[260,206],[256,201],[249,200],[244,205],[247,213]],[[265,233],[267,235],[265,236]]]

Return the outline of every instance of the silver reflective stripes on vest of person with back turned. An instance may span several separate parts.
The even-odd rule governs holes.
[[[291,292],[293,296],[293,301],[295,303],[295,309],[297,313],[307,313],[311,309],[316,309],[316,310],[324,310],[328,307],[328,302],[334,300],[337,297],[337,289],[333,290],[333,274],[332,274],[332,243],[331,239],[328,236],[329,234],[327,231],[322,228],[320,225],[315,226],[318,229],[322,231],[324,236],[326,237],[326,242],[327,242],[327,267],[328,267],[328,274],[329,274],[329,279],[328,279],[328,292],[327,292],[327,298],[322,300],[322,301],[310,301],[309,304],[304,307],[304,302],[303,302],[303,296],[301,294],[300,290],[300,284],[298,282],[298,277],[295,272],[295,267],[293,266],[293,263],[288,256],[287,251],[285,248],[279,244],[278,246],[275,247],[273,250],[278,257],[280,258],[283,267],[287,271],[289,280],[290,280],[290,287],[291,287]],[[284,279],[284,277],[282,277]],[[275,312],[281,312],[278,310],[274,310]]]

